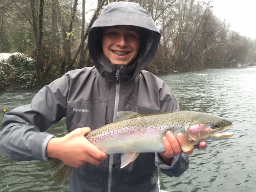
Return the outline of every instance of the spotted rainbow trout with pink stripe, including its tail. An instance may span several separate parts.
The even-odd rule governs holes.
[[[138,114],[118,112],[116,121],[85,135],[85,138],[106,154],[122,153],[120,168],[134,161],[139,153],[164,152],[162,138],[172,131],[183,133],[188,142],[182,144],[184,152],[192,150],[201,141],[212,142],[232,137],[222,132],[232,123],[212,114],[193,111]],[[50,160],[51,174],[58,185],[66,182],[72,167],[58,159]]]

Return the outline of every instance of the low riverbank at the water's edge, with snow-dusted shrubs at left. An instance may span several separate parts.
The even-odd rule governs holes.
[[[153,65],[154,66],[154,65]],[[255,66],[254,64],[228,64],[215,65],[215,68],[231,68],[231,67]],[[196,68],[194,70],[156,70],[156,66],[149,65],[146,70],[155,75],[180,74],[189,71],[205,70],[204,68]],[[60,78],[60,66],[54,67],[50,74],[43,74],[40,79],[37,78],[36,61],[28,56],[19,53],[1,53],[0,54],[0,92],[10,92],[19,90],[39,90],[43,86],[50,84],[53,80]]]

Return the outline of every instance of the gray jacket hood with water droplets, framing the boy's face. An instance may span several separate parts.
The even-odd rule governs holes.
[[[148,12],[136,3],[112,2],[108,4],[92,25],[88,35],[88,49],[100,74],[116,72],[117,66],[110,64],[102,51],[102,30],[106,26],[132,25],[141,28],[140,50],[135,63],[122,72],[134,76],[140,73],[156,54],[160,32]]]

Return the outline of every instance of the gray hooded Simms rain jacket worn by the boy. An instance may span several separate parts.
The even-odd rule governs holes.
[[[102,52],[102,27],[133,25],[144,28],[136,62],[130,68],[110,64]],[[54,137],[45,132],[66,116],[68,132],[80,127],[92,130],[113,122],[117,111],[138,113],[176,111],[178,101],[159,78],[144,71],[160,40],[154,21],[138,4],[110,3],[89,32],[89,51],[95,67],[69,71],[44,86],[31,101],[4,116],[0,150],[15,160],[47,161],[46,145]],[[99,166],[73,168],[71,192],[158,192],[158,169],[180,176],[188,168],[188,156],[176,156],[172,167],[154,153],[142,153],[120,169],[120,154],[110,155]]]

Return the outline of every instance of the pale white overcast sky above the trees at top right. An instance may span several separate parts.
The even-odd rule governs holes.
[[[256,0],[212,0],[213,12],[231,29],[256,39]]]

